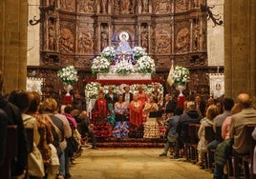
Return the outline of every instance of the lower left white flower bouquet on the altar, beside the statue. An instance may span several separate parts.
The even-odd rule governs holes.
[[[105,73],[105,72],[108,72],[109,69],[110,69],[110,62],[108,59],[102,56],[97,56],[93,60],[93,65],[92,65],[93,74],[96,74],[98,72]]]

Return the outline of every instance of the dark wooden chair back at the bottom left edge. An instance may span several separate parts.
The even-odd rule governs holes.
[[[11,159],[17,155],[17,138],[17,126],[8,126],[6,155],[3,164],[0,166],[1,178],[11,179]]]

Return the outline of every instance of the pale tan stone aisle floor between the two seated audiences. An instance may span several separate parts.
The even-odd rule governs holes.
[[[212,174],[183,160],[159,157],[162,149],[84,149],[73,179],[208,179]]]

